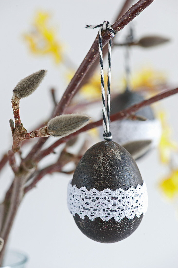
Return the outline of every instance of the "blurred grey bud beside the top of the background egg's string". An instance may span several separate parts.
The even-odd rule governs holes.
[[[141,47],[154,47],[168,41],[170,41],[170,39],[161,36],[145,36],[138,41],[137,45]]]

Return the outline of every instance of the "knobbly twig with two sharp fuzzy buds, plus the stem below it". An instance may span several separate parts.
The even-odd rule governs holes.
[[[23,140],[32,139],[34,137],[48,137],[58,136],[65,137],[71,133],[79,130],[86,124],[88,124],[89,117],[83,114],[65,114],[56,116],[48,121],[47,125],[36,130],[27,132],[20,120],[19,103],[20,99],[25,98],[32,94],[41,83],[46,74],[45,70],[40,70],[32,75],[22,79],[14,88],[12,97],[12,108],[14,113],[14,122],[10,119],[10,128],[13,136],[12,149],[9,150],[7,158],[12,170],[15,174],[13,183],[5,196],[4,202],[1,204],[1,232],[0,235],[4,241],[4,248],[7,243],[7,237],[9,236],[14,217],[16,215],[19,204],[24,195],[24,185],[29,180],[34,170],[37,168],[34,161],[25,163],[21,162],[20,166],[17,166],[14,154],[20,151]],[[6,159],[5,159],[6,160]],[[2,164],[5,163],[2,159]],[[71,160],[70,160],[71,161]],[[62,163],[59,162],[41,171],[39,176],[44,175],[45,172],[50,173],[54,170],[59,172],[59,166],[62,167]],[[51,170],[51,171],[50,171]],[[38,177],[39,178],[39,177]],[[36,179],[38,180],[38,179]],[[35,182],[35,180],[34,180]],[[3,206],[3,209],[2,209]],[[4,248],[0,252],[0,264],[2,262]]]

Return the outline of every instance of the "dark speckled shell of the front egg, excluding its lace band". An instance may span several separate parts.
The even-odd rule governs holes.
[[[83,155],[79,161],[71,182],[77,188],[86,187],[104,189],[122,188],[126,191],[130,187],[142,185],[142,177],[131,155],[119,144],[112,141],[103,141],[95,144]],[[103,243],[120,241],[137,229],[143,215],[139,218],[127,219],[120,222],[111,218],[103,221],[96,218],[91,221],[88,216],[84,219],[75,214],[74,220],[78,228],[89,238]]]

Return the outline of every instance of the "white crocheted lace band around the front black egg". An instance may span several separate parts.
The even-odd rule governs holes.
[[[130,187],[127,191],[119,188],[116,191],[104,189],[99,192],[95,188],[80,189],[76,185],[68,184],[67,205],[73,216],[77,213],[80,218],[88,216],[90,220],[100,217],[103,221],[114,218],[121,221],[124,217],[133,219],[145,214],[148,207],[146,184]]]

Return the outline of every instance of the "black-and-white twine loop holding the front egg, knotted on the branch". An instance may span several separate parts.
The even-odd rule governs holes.
[[[102,109],[103,109],[103,137],[105,140],[112,140],[112,134],[109,131],[109,114],[110,114],[110,84],[111,84],[111,40],[108,42],[108,88],[107,88],[107,108],[105,107],[105,91],[104,91],[104,73],[103,73],[103,48],[102,48],[102,36],[103,30],[108,30],[113,37],[115,35],[109,21],[104,21],[99,25],[86,25],[86,28],[100,28],[98,32],[99,38],[99,55],[100,55],[100,72],[101,72],[101,96],[102,96]]]

